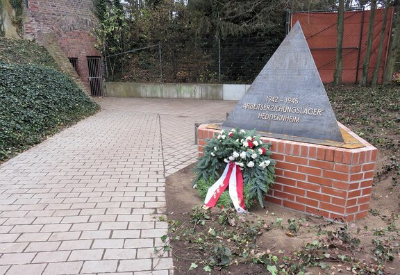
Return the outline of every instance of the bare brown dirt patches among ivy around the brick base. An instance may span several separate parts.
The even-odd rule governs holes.
[[[385,160],[380,158],[376,167],[381,169],[381,163]],[[170,220],[179,220],[181,222],[190,219],[190,211],[193,206],[201,206],[202,201],[197,190],[191,188],[192,179],[194,174],[191,172],[193,165],[182,169],[175,174],[167,177],[166,191],[167,191],[167,218]],[[400,220],[391,219],[390,217],[398,217],[400,213],[399,194],[400,186],[393,184],[392,176],[385,174],[385,177],[380,178],[378,183],[373,188],[372,201],[370,203],[369,215],[356,222],[348,224],[349,231],[354,237],[360,239],[360,251],[357,253],[358,259],[365,263],[372,263],[372,256],[374,251],[374,238],[387,239],[390,235],[393,236],[399,244],[399,228]],[[291,253],[292,251],[304,247],[307,243],[318,240],[318,228],[328,224],[328,221],[320,217],[313,217],[303,213],[283,208],[272,203],[265,203],[265,209],[255,207],[251,209],[252,213],[256,213],[265,219],[266,224],[271,224],[269,231],[263,233],[258,237],[257,244],[260,249],[267,251],[269,249],[273,253]],[[276,219],[282,218],[282,226],[276,224]],[[302,219],[303,222],[299,231],[294,235],[288,234],[288,219],[294,218],[296,220]],[[387,228],[390,222],[394,221],[397,228],[396,231],[387,232],[381,230]],[[342,224],[330,224],[329,228],[338,228]],[[374,235],[375,234],[375,235]],[[377,237],[378,235],[378,237]],[[185,248],[188,243],[181,241],[172,242],[172,251],[179,251]],[[188,250],[190,251],[190,250]],[[174,274],[209,274],[204,272],[200,266],[197,269],[190,269],[192,260],[185,260],[184,258],[193,258],[190,253],[187,254],[176,253],[174,255]],[[179,255],[178,255],[179,254]],[[313,267],[309,269],[306,274],[355,274],[346,269],[344,263],[328,263],[331,266],[331,272]],[[242,264],[230,265],[227,269],[211,272],[212,274],[269,274],[263,265],[257,264]],[[400,253],[394,255],[392,262],[385,264],[385,273],[381,274],[400,274]]]

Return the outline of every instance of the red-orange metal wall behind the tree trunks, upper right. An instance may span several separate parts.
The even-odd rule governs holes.
[[[363,15],[364,12],[364,15]],[[369,10],[344,12],[343,38],[343,83],[360,82],[363,72],[363,61],[367,47]],[[308,46],[317,65],[322,82],[333,82],[336,60],[337,12],[294,12],[291,14],[291,26],[299,21],[306,36]],[[390,38],[392,9],[387,15],[385,42],[379,69],[378,82],[381,83],[387,57],[387,45]],[[377,9],[374,20],[372,54],[369,61],[369,80],[374,73],[378,58],[379,40],[383,24],[383,9]]]

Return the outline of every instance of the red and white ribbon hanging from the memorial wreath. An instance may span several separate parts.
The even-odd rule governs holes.
[[[233,162],[229,162],[226,165],[222,176],[216,183],[208,188],[206,199],[204,200],[204,206],[207,208],[214,207],[215,204],[217,204],[219,196],[221,196],[228,185],[229,197],[231,197],[235,209],[238,211],[238,213],[247,213],[243,198],[242,171],[238,165],[235,165]]]

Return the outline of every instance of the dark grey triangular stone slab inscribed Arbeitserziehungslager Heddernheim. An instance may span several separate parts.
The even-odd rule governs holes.
[[[222,126],[343,142],[299,22]]]

